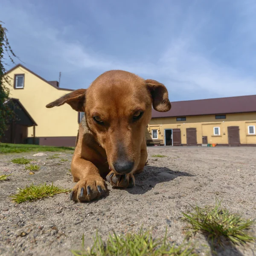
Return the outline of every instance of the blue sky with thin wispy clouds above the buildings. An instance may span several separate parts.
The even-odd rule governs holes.
[[[64,88],[122,69],[171,101],[256,94],[255,0],[1,0],[0,20],[22,64]]]

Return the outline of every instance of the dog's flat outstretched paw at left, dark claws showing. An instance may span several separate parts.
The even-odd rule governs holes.
[[[84,202],[97,199],[107,192],[105,181],[100,176],[88,176],[79,180],[70,193],[70,200]]]

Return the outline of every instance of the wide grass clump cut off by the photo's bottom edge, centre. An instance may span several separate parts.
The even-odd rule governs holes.
[[[167,230],[166,230],[167,235]],[[166,241],[166,235],[163,239],[153,239],[151,232],[143,232],[141,227],[137,234],[127,233],[117,236],[109,234],[107,241],[96,233],[94,244],[87,250],[84,248],[84,235],[82,236],[82,249],[71,250],[74,256],[196,256],[193,248],[188,244],[170,244]]]

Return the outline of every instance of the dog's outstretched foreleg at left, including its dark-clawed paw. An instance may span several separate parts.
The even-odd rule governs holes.
[[[73,181],[77,182],[70,194],[73,201],[91,201],[104,195],[105,181],[99,174],[97,167],[90,161],[74,156],[71,163]]]

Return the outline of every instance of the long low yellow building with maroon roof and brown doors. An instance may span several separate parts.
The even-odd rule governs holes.
[[[256,95],[172,102],[152,111],[148,145],[256,146]]]

